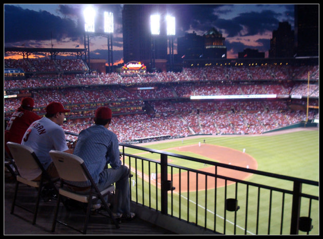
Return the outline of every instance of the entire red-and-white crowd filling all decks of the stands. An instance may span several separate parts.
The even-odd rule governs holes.
[[[29,72],[43,72],[23,80],[5,79],[5,90],[15,94],[31,93],[35,112],[39,115],[44,114],[44,107],[49,102],[62,102],[71,110],[64,124],[65,131],[78,134],[93,123],[95,108],[107,104],[114,115],[111,129],[120,142],[158,135],[260,134],[306,119],[304,111],[291,110],[285,99],[190,101],[192,95],[304,97],[309,92],[311,97],[319,96],[318,83],[309,84],[308,89],[306,80],[308,72],[312,81],[318,80],[317,66],[184,68],[177,73],[130,76],[71,73],[86,70],[86,65],[80,60],[5,60],[5,65],[8,68],[21,67]],[[56,69],[71,72],[55,73]],[[150,90],[137,89],[134,84],[160,82],[167,83],[154,84]],[[5,99],[5,117],[9,117],[19,103],[17,98]],[[149,113],[146,108],[150,108]],[[310,111],[309,118],[318,117],[316,113]]]

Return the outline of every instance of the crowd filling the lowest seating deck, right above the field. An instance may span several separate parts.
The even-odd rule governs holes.
[[[160,100],[150,104],[155,109],[154,115],[127,114],[113,117],[111,129],[117,134],[120,142],[158,135],[185,137],[194,134],[261,134],[306,120],[305,112],[290,111],[286,102],[279,100],[245,102],[245,105],[250,106],[248,110],[239,108],[239,102],[231,104],[230,107],[228,102],[218,104]],[[310,111],[309,119],[317,118],[315,114],[314,111]],[[93,118],[82,120],[83,123],[79,122],[79,119],[70,120],[65,124],[65,130],[78,134],[93,121]]]

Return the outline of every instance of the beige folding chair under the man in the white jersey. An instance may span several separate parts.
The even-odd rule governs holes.
[[[39,201],[41,199],[42,189],[44,189],[46,186],[49,186],[53,188],[54,193],[58,195],[58,190],[56,189],[54,183],[57,182],[59,178],[51,179],[49,177],[48,173],[44,169],[43,165],[39,162],[32,148],[14,142],[7,142],[7,146],[9,147],[10,153],[17,166],[18,172],[16,176],[16,186],[10,213],[13,213],[15,206],[20,207],[26,211],[32,212],[34,214],[32,225],[34,225],[36,223],[36,217],[38,212]],[[42,176],[39,181],[26,179],[26,177],[24,176],[24,170],[33,171],[39,168],[42,170]],[[37,200],[34,211],[30,210],[29,208],[23,207],[22,205],[16,204],[19,183],[23,183],[37,189]]]

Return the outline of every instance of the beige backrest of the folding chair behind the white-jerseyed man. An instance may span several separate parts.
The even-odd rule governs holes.
[[[42,173],[37,156],[31,147],[14,142],[7,142],[7,146],[21,177],[32,180]]]

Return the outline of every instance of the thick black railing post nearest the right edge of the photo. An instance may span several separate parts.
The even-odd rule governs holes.
[[[291,235],[298,234],[298,219],[299,219],[299,213],[300,213],[300,193],[301,193],[301,183],[294,181],[291,231],[290,231]]]

